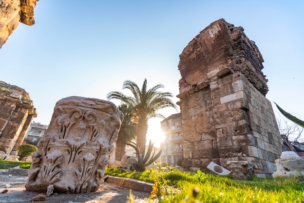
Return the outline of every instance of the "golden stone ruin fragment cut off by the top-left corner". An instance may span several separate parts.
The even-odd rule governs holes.
[[[1,0],[0,1],[0,48],[17,28],[19,21],[33,25],[34,8],[38,0]]]

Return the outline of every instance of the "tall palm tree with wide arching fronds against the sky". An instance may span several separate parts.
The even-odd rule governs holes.
[[[145,153],[148,120],[151,118],[165,118],[163,115],[157,113],[160,109],[173,107],[177,110],[176,105],[170,99],[173,95],[170,92],[158,91],[160,88],[164,88],[164,85],[157,84],[147,90],[147,79],[144,80],[141,89],[133,81],[124,81],[122,89],[129,89],[133,94],[132,97],[119,91],[111,91],[107,95],[108,100],[120,100],[133,109],[133,113],[138,119],[136,143],[141,154]]]

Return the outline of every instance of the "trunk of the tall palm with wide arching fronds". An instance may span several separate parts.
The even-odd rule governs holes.
[[[145,154],[147,130],[148,122],[144,118],[139,118],[136,128],[136,144],[138,145],[140,154]]]

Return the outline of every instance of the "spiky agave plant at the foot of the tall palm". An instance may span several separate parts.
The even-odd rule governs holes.
[[[132,165],[132,169],[137,170],[137,171],[144,171],[145,167],[150,165],[152,162],[155,162],[160,157],[161,152],[162,152],[162,149],[161,149],[154,156],[154,154],[155,154],[155,147],[154,147],[154,152],[153,152],[153,155],[151,156],[153,145],[154,145],[154,143],[151,143],[151,140],[149,142],[149,147],[148,147],[148,151],[147,151],[146,155],[145,155],[145,153],[140,153],[139,147],[135,142],[132,142],[132,144],[130,144],[130,143],[125,143],[125,144],[132,146],[136,151],[136,154],[138,156],[138,161]]]

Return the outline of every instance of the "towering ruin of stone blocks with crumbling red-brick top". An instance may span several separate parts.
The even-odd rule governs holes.
[[[185,169],[215,162],[252,162],[254,174],[270,177],[282,139],[265,95],[263,58],[242,27],[211,23],[180,55],[181,132]]]

